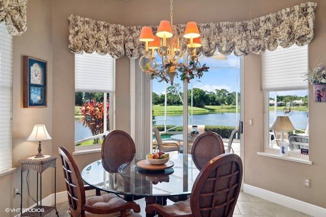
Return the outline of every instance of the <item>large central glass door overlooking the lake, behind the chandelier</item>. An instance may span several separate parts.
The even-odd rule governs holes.
[[[226,57],[216,51],[212,57],[199,57],[199,61],[209,66],[209,72],[200,79],[192,79],[187,87],[180,79],[180,72],[173,86],[152,80],[152,123],[159,128],[163,140],[171,140],[171,136],[174,139],[173,134],[180,134],[183,129],[189,133],[192,125],[198,125],[200,133],[205,128],[206,131],[230,128],[231,133],[232,128],[239,125],[241,58],[234,55]],[[184,93],[187,93],[186,100]],[[188,105],[188,110],[183,110],[183,102]],[[223,136],[227,138],[227,135]],[[191,151],[193,141],[188,142],[187,148]]]

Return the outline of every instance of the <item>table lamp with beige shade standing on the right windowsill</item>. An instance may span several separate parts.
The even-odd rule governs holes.
[[[281,144],[280,144],[280,153],[281,156],[288,155],[289,144],[284,142],[284,130],[295,130],[291,120],[288,116],[277,116],[274,124],[270,127],[273,130],[281,130]],[[276,136],[276,135],[275,135]]]

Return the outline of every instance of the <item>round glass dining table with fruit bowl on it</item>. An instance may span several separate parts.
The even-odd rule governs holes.
[[[144,167],[145,161],[145,153],[100,159],[83,169],[82,178],[101,191],[124,195],[127,200],[145,197],[146,205],[166,205],[168,197],[184,200],[191,194],[200,168],[209,159],[198,155],[170,153],[170,159],[165,164],[167,167],[163,165],[157,169],[154,165]]]

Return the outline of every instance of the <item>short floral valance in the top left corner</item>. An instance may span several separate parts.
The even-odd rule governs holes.
[[[10,35],[19,36],[27,30],[27,0],[1,0],[0,22],[5,22]]]

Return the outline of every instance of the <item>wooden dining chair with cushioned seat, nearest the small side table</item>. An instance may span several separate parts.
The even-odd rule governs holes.
[[[141,217],[141,215],[137,213],[140,212],[138,203],[127,202],[113,193],[86,198],[83,179],[74,158],[65,147],[59,147],[59,155],[62,161],[71,216]]]

